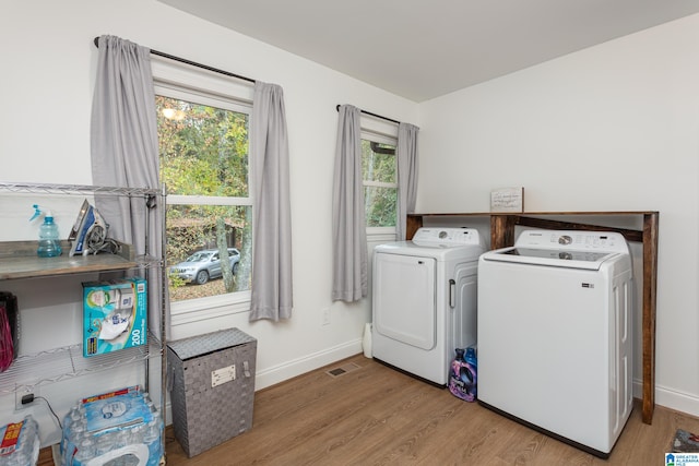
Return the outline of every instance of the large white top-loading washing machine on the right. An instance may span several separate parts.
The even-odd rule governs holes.
[[[525,230],[478,264],[478,401],[606,458],[632,408],[620,234]]]

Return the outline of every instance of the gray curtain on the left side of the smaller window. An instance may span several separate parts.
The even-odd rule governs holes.
[[[358,301],[368,291],[367,232],[362,177],[359,109],[339,109],[332,193],[332,300]]]

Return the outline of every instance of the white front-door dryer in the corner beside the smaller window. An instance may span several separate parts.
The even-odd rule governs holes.
[[[420,228],[374,250],[372,357],[446,385],[455,348],[476,343],[476,275],[483,238],[473,228]]]

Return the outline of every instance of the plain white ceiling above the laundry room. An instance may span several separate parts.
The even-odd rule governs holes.
[[[699,12],[699,0],[159,1],[414,101]]]

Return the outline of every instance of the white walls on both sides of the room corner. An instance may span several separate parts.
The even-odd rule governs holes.
[[[656,402],[699,415],[699,16],[416,105],[155,0],[10,2],[0,16],[0,178],[91,182],[92,40],[102,34],[284,87],[294,316],[254,324],[246,313],[182,319],[175,337],[225,326],[256,336],[258,387],[360,351],[369,303],[330,301],[335,105],[348,103],[422,128],[417,212],[487,211],[490,190],[510,186],[525,187],[529,211],[660,211]],[[66,215],[72,220],[74,212]],[[24,216],[12,219],[29,231]],[[69,321],[79,307],[60,310],[70,330],[56,332],[40,319],[50,310],[31,302],[37,333],[25,333],[24,349],[78,337],[78,321]],[[56,385],[56,397],[69,403],[75,383]],[[0,418],[13,415],[13,404],[0,394]]]

